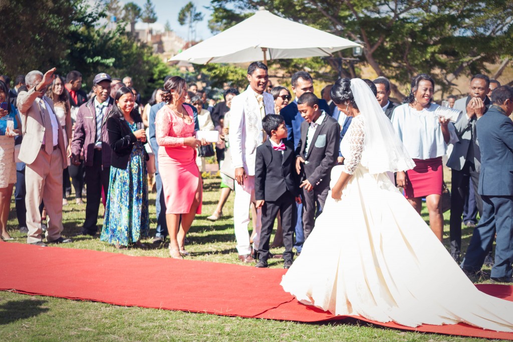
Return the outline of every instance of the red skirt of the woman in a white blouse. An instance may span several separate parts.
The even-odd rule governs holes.
[[[413,159],[416,166],[406,171],[406,198],[442,195],[444,178],[442,157],[426,160]]]

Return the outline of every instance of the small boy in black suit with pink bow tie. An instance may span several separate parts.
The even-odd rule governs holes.
[[[297,215],[294,201],[299,197],[298,175],[295,172],[294,144],[287,141],[287,127],[281,115],[267,115],[262,127],[269,139],[257,147],[255,162],[255,200],[262,207],[262,231],[258,246],[257,267],[267,267],[269,240],[274,220],[280,211],[283,228],[283,268],[292,265],[293,216]]]

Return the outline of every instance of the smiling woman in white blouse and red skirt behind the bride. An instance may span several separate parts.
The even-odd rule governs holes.
[[[435,82],[426,74],[413,78],[405,103],[393,111],[392,125],[416,164],[397,173],[397,185],[404,187],[405,197],[419,215],[422,198],[426,198],[431,230],[442,241],[442,156],[447,145],[458,138],[452,123],[435,113],[440,106],[432,103],[434,88]]]

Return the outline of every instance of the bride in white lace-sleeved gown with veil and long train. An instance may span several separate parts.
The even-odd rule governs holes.
[[[415,164],[370,88],[340,79],[331,98],[353,117],[345,165],[333,167],[332,198],[283,289],[335,315],[513,332],[513,302],[477,290],[394,186],[391,173]]]

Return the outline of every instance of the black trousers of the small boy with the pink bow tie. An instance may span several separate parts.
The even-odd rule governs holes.
[[[265,201],[262,206],[262,230],[258,247],[259,259],[261,260],[269,258],[269,242],[278,211],[280,211],[282,219],[283,244],[285,245],[283,259],[292,259],[295,230],[295,224],[293,223],[295,223],[294,217],[297,215],[297,210],[294,195],[286,191],[276,201]]]

